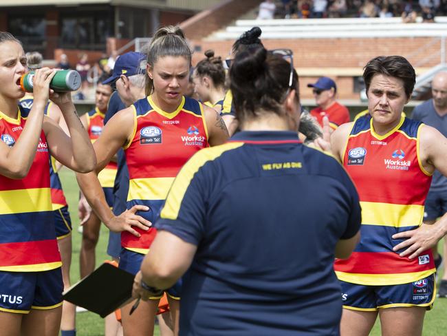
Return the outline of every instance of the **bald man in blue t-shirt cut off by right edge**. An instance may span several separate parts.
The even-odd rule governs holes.
[[[422,123],[434,127],[442,135],[447,136],[447,72],[438,72],[431,83],[433,98],[417,105],[413,109],[411,118],[422,121]],[[433,173],[430,189],[424,204],[424,223],[435,224],[437,218],[444,216],[447,212],[447,177],[439,171]],[[447,251],[447,240],[444,241],[444,255]],[[433,248],[433,259],[436,268],[441,264],[441,256],[437,248]],[[439,286],[439,297],[447,297],[447,271],[444,270],[441,285]]]

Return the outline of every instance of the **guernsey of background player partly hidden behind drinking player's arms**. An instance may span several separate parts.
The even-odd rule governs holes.
[[[100,112],[98,107],[91,110],[87,114],[87,123],[88,128],[87,132],[89,133],[89,137],[91,143],[94,143],[97,138],[102,134],[102,128],[104,127],[104,117],[105,114]],[[118,166],[116,162],[109,162],[107,166],[105,166],[102,171],[98,174],[98,180],[100,182],[101,187],[103,188],[113,188],[113,184],[115,183],[116,171]]]

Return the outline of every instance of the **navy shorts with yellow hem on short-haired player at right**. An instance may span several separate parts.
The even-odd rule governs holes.
[[[419,306],[433,308],[436,297],[435,275],[408,284],[364,286],[340,280],[343,308],[377,311],[379,308]]]

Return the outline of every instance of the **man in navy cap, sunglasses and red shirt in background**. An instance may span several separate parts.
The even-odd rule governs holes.
[[[316,118],[323,127],[323,117],[327,116],[332,128],[349,123],[348,109],[336,102],[337,85],[329,77],[320,77],[316,83],[309,83],[307,87],[312,87],[315,103],[318,105],[312,109],[310,114]]]

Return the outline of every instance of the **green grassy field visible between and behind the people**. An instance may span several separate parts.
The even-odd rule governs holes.
[[[79,280],[79,249],[81,234],[78,233],[78,185],[76,183],[76,178],[72,171],[68,169],[63,169],[60,173],[62,184],[65,191],[65,196],[69,204],[69,210],[72,215],[73,222],[73,257],[72,257],[72,269],[71,277],[72,284]],[[96,266],[99,266],[104,260],[108,259],[107,250],[107,239],[108,230],[102,225],[100,239],[98,246],[96,247]],[[441,242],[439,243],[441,246]],[[439,251],[442,251],[439,248]],[[447,319],[445,318],[445,312],[447,311],[447,298],[437,299],[435,301],[435,307],[432,311],[426,313],[424,322],[424,336],[438,336],[447,334]],[[104,321],[99,315],[94,313],[78,313],[76,316],[76,329],[78,330],[78,335],[80,336],[100,336],[104,335]],[[155,328],[155,335],[159,335],[158,328]],[[371,336],[380,335],[380,323],[376,323],[371,334]]]

